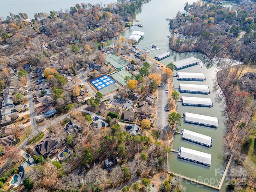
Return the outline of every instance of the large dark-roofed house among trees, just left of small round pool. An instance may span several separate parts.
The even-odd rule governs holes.
[[[54,155],[58,154],[62,148],[62,142],[54,140],[53,138],[48,138],[36,145],[36,151],[44,158],[53,157]]]

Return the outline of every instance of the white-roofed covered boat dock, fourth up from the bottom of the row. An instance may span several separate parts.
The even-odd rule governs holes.
[[[204,97],[181,97],[182,105],[187,106],[202,106],[202,107],[211,107],[213,106],[212,100],[210,98]]]

